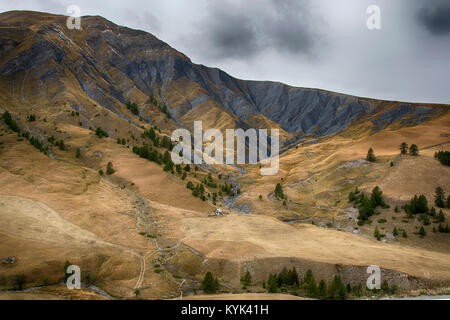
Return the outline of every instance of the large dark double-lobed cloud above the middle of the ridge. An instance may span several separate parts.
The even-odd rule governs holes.
[[[245,59],[267,49],[311,55],[317,25],[309,0],[214,2],[197,37],[214,58]]]

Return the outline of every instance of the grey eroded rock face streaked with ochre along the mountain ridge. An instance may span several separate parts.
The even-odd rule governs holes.
[[[323,90],[295,88],[268,81],[244,81],[197,65],[151,34],[117,26],[101,17],[83,17],[83,30],[68,30],[65,18],[27,13],[0,15],[0,76],[33,71],[42,83],[59,83],[70,75],[99,105],[120,115],[120,104],[135,87],[157,95],[176,122],[202,103],[215,102],[249,127],[251,115],[263,115],[290,133],[316,136],[340,132],[352,122],[372,121],[375,130],[401,121],[423,122],[442,112],[426,105],[358,98]],[[52,17],[52,18],[49,18]],[[27,43],[27,45],[24,45]],[[49,85],[50,87],[50,85]],[[58,90],[60,92],[61,90]],[[50,95],[51,93],[48,93]]]

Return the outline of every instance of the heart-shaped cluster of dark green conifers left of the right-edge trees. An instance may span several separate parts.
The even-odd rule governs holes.
[[[364,225],[369,218],[375,214],[375,209],[380,206],[383,209],[388,209],[390,206],[386,204],[383,200],[383,191],[376,186],[372,190],[370,197],[367,197],[363,192],[359,191],[358,188],[354,192],[349,194],[349,202],[354,202],[356,208],[359,211],[358,224]]]

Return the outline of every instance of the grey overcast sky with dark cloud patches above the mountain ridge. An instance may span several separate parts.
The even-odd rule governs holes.
[[[16,0],[148,31],[234,77],[347,94],[450,103],[450,0]],[[369,5],[381,30],[369,30]]]

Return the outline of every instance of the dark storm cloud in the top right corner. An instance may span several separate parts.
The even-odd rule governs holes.
[[[429,32],[436,36],[450,34],[450,4],[423,8],[418,12],[417,18]]]

